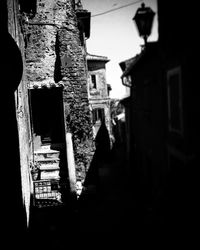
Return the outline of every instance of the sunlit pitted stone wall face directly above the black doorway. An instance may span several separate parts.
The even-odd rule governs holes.
[[[54,82],[57,27],[53,18],[54,1],[38,1],[37,14],[27,15],[26,68],[29,84]]]

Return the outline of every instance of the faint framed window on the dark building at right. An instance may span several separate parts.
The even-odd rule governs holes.
[[[169,70],[167,72],[169,130],[180,134],[183,132],[181,84],[181,68]]]

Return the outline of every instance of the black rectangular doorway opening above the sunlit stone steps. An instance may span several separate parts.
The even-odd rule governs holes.
[[[41,145],[64,142],[62,88],[32,89],[31,113],[35,138]]]

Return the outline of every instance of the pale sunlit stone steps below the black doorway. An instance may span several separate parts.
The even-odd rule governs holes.
[[[50,145],[42,146],[34,151],[35,161],[40,166],[40,180],[59,179],[60,152],[52,150]]]

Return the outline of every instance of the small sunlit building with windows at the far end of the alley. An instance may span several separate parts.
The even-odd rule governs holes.
[[[111,133],[109,97],[111,86],[106,80],[106,63],[108,62],[109,59],[105,56],[87,54],[89,103],[92,110],[94,137],[104,119]]]

